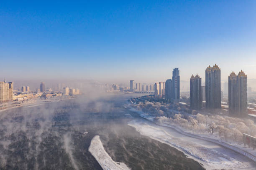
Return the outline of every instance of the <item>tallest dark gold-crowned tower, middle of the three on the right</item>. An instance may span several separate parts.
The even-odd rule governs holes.
[[[218,109],[221,103],[220,67],[214,65],[205,70],[205,101],[207,109]]]

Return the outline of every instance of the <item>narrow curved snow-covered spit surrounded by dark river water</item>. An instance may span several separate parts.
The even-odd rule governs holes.
[[[128,168],[124,163],[116,163],[112,160],[112,158],[105,151],[100,141],[100,136],[98,135],[92,138],[89,151],[103,170],[130,170],[130,168]]]

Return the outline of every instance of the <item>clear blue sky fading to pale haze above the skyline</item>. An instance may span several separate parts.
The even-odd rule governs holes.
[[[256,78],[256,0],[2,1],[0,78]]]

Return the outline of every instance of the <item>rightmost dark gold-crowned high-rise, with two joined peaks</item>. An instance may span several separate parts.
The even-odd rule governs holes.
[[[247,115],[247,75],[242,70],[228,76],[228,109],[230,114]]]

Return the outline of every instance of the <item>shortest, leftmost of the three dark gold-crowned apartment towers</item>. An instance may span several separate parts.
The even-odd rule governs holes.
[[[202,79],[199,75],[190,77],[190,106],[193,109],[202,109]]]

